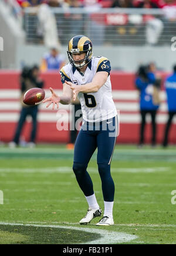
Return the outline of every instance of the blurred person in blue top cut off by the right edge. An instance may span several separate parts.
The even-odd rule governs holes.
[[[173,68],[174,73],[167,77],[165,80],[165,90],[167,94],[167,104],[168,104],[168,121],[165,125],[163,146],[168,146],[168,134],[170,131],[172,119],[176,114],[176,65]]]

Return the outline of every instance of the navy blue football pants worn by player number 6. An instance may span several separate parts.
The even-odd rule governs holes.
[[[85,196],[94,193],[92,179],[87,172],[87,165],[97,149],[97,165],[103,198],[106,202],[114,201],[114,182],[110,173],[110,163],[116,137],[117,116],[99,123],[83,121],[75,142],[73,172]]]

